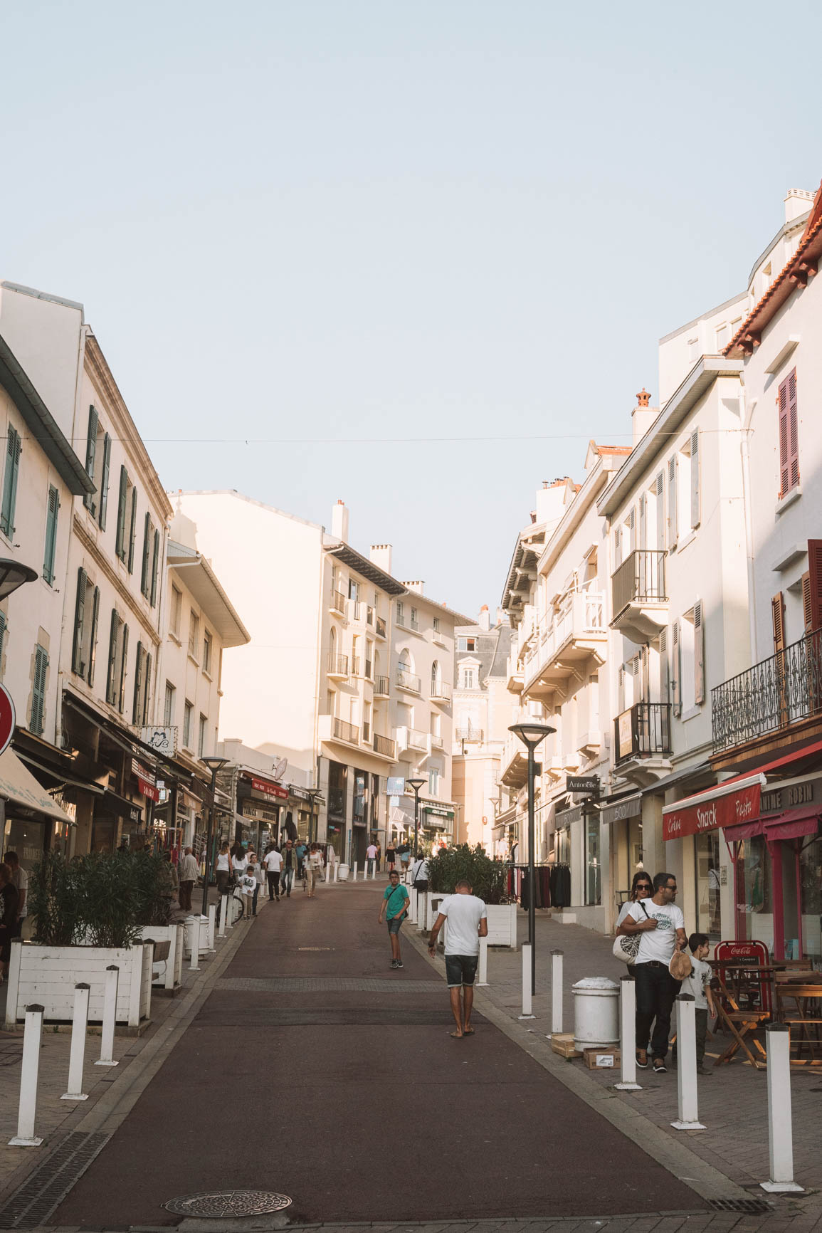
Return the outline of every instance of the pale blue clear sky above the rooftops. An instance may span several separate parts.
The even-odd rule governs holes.
[[[9,0],[0,277],[83,302],[168,490],[343,498],[493,612],[541,482],[820,184],[790,12]]]

